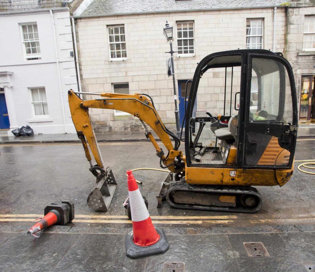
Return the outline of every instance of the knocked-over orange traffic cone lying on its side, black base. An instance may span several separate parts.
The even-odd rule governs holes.
[[[51,225],[66,225],[74,219],[74,204],[72,201],[63,200],[61,203],[51,203],[44,209],[44,217],[42,217],[35,225],[33,225],[27,234],[39,237],[38,231],[48,228]]]

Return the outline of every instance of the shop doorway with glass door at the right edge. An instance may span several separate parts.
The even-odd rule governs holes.
[[[300,114],[301,123],[315,123],[314,116],[314,75],[302,75],[300,93]]]

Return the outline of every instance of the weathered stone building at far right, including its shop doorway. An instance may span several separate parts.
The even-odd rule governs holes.
[[[286,8],[285,57],[295,75],[299,123],[315,123],[315,3],[291,1]]]

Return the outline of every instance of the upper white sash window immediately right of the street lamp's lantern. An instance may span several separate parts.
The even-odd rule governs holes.
[[[179,55],[195,54],[194,22],[177,22],[177,51]]]

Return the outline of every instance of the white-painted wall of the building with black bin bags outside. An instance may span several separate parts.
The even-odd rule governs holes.
[[[55,54],[53,24],[49,11],[0,15],[0,72],[10,71],[12,87],[5,87],[5,96],[9,112],[10,130],[25,125],[31,126],[34,134],[75,133],[70,116],[67,91],[77,91],[77,77],[70,14],[68,8],[53,11],[57,39],[61,90],[66,119],[63,120],[60,85]],[[21,37],[21,23],[37,23],[41,49],[40,60],[25,60]],[[45,87],[49,118],[34,118],[31,105],[30,88]],[[10,112],[14,111],[14,114]],[[13,134],[9,131],[9,136]]]

